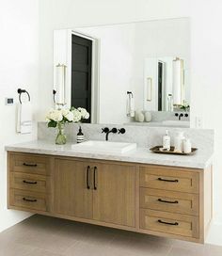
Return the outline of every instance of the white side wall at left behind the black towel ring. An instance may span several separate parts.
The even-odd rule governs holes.
[[[17,88],[26,88],[34,111],[39,93],[39,1],[0,0],[0,231],[28,214],[7,210],[7,167],[5,145],[31,140],[32,135],[15,132],[16,104],[5,105],[6,97],[18,102]]]

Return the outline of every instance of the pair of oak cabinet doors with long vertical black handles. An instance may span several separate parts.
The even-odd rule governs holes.
[[[135,168],[56,158],[54,212],[135,226]]]

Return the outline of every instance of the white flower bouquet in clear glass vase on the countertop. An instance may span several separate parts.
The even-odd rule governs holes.
[[[89,119],[89,113],[83,107],[71,109],[52,109],[46,116],[48,127],[58,128],[56,136],[56,144],[66,144],[66,136],[64,135],[64,125],[66,122],[80,122]]]

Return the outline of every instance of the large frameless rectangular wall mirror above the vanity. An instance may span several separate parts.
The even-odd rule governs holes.
[[[176,120],[175,111],[188,111],[188,18],[56,30],[55,85],[58,63],[67,66],[65,102],[87,108],[92,123]]]

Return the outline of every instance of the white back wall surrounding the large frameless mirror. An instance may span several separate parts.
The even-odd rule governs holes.
[[[191,17],[191,124],[203,119],[215,129],[214,220],[222,223],[222,1],[221,0],[40,0],[39,118],[50,106],[53,88],[53,30]]]

